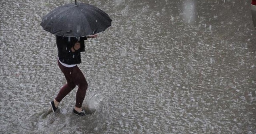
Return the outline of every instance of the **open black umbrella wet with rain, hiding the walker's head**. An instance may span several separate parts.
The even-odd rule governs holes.
[[[60,6],[44,18],[44,30],[65,37],[84,37],[105,31],[112,20],[102,10],[90,4],[76,3]]]

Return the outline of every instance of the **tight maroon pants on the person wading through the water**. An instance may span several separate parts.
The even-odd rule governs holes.
[[[74,67],[65,67],[58,61],[58,65],[62,73],[64,73],[65,78],[67,80],[67,84],[64,85],[57,97],[56,101],[60,102],[70,91],[72,91],[76,85],[78,85],[78,90],[76,92],[76,107],[82,107],[82,103],[84,101],[84,97],[86,94],[86,90],[88,87],[88,83],[82,73],[82,71],[78,68],[78,66]]]

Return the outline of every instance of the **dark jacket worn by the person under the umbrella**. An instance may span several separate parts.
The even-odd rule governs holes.
[[[84,40],[86,37],[80,37],[80,49],[75,52],[71,51],[71,48],[78,41],[76,37],[63,37],[56,35],[56,43],[58,47],[58,58],[61,62],[66,63],[68,65],[79,64],[81,63],[81,55],[80,52],[84,50]]]

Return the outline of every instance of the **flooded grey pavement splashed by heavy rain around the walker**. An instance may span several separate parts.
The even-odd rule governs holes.
[[[81,1],[113,20],[82,53],[85,117],[77,87],[48,111],[66,80],[40,22],[73,1],[0,1],[0,133],[256,133],[250,0]]]

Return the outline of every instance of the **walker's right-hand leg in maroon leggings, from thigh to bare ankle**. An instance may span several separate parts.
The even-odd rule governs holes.
[[[73,76],[72,79],[75,83],[75,85],[78,85],[78,90],[76,92],[76,105],[75,110],[77,112],[82,111],[82,103],[84,101],[84,97],[86,95],[86,90],[88,87],[88,83],[82,73],[82,71],[76,66],[73,70]]]

